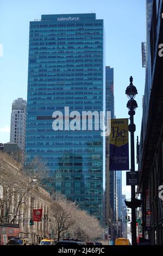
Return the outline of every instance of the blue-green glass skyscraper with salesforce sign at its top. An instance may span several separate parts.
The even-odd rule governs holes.
[[[54,131],[52,114],[61,111],[67,120],[65,107],[80,114],[105,111],[104,68],[103,20],[96,14],[42,15],[30,22],[27,156],[47,163],[52,190],[99,220],[105,138],[94,129]]]

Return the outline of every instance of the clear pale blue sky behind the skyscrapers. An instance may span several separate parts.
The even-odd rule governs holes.
[[[9,142],[12,101],[27,99],[29,21],[41,14],[96,13],[104,20],[105,62],[114,68],[116,118],[128,118],[126,87],[134,77],[139,108],[135,115],[135,141],[140,137],[145,69],[141,65],[141,42],[146,41],[145,0],[1,0],[0,1],[0,142]],[[123,173],[123,187],[126,175]],[[130,186],[124,187],[130,197]],[[123,191],[124,192],[124,191]]]

